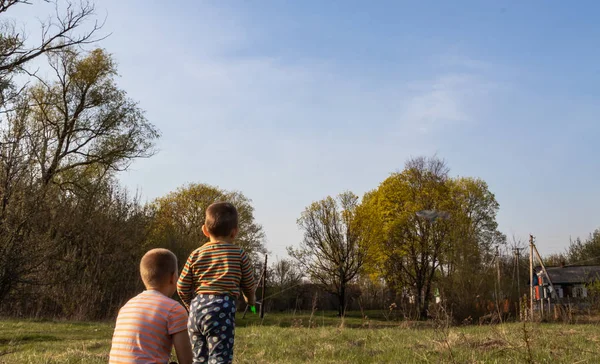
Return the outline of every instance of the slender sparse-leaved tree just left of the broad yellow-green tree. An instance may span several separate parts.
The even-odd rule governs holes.
[[[312,203],[298,219],[304,240],[299,248],[288,248],[309,278],[337,296],[340,316],[346,312],[348,284],[366,256],[355,221],[357,206],[358,197],[352,192]]]

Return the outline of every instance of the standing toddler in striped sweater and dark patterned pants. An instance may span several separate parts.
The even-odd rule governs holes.
[[[202,231],[210,241],[189,256],[177,292],[190,311],[194,364],[231,363],[236,300],[241,291],[247,304],[254,306],[254,273],[244,249],[233,244],[238,213],[232,204],[210,205]]]

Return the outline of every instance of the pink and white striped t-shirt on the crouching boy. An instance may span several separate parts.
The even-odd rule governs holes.
[[[187,330],[188,315],[177,301],[147,290],[119,311],[109,364],[168,363],[171,335]]]

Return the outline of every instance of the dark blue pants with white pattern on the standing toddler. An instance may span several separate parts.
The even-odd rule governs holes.
[[[235,299],[200,294],[190,306],[188,333],[194,364],[221,364],[233,361]]]

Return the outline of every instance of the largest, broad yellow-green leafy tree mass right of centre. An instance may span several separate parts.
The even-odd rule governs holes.
[[[447,218],[427,219],[423,210]],[[424,318],[435,282],[446,283],[451,301],[458,299],[455,293],[478,292],[478,272],[489,263],[493,245],[504,242],[497,210],[485,182],[452,179],[435,157],[411,159],[402,172],[367,193],[358,209],[362,242],[369,250],[367,271],[414,297]]]

